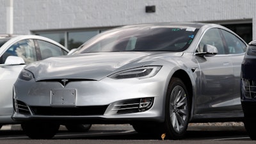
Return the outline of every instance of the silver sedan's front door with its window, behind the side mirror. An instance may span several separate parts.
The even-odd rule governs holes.
[[[223,113],[232,108],[232,94],[236,89],[236,79],[232,60],[227,54],[226,42],[220,29],[208,29],[198,45],[198,52],[202,52],[204,45],[213,45],[218,49],[215,56],[196,56],[200,73],[195,97],[195,113]]]

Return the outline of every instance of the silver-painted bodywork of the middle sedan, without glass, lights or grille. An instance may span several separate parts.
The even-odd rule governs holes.
[[[188,24],[188,26],[193,25]],[[188,49],[183,52],[95,52],[49,58],[33,63],[26,67],[26,70],[33,72],[35,79],[31,81],[17,79],[14,85],[16,92],[14,99],[25,102],[28,106],[52,108],[108,106],[108,108],[104,115],[49,116],[22,115],[15,112],[13,118],[15,120],[28,120],[28,118],[144,119],[163,122],[168,83],[173,74],[180,76],[179,73],[175,73],[179,70],[188,75],[192,84],[192,95],[189,95],[192,101],[190,121],[205,120],[207,122],[212,118],[232,116],[242,118],[243,112],[237,97],[239,97],[239,68],[244,53],[196,56],[196,47],[205,31],[210,28],[230,31],[215,24],[205,24],[199,29]],[[108,77],[121,70],[154,65],[162,67],[156,76],[147,79],[111,79]],[[84,79],[84,81],[71,81],[63,86],[57,81],[47,81],[49,79]],[[76,92],[75,104],[51,105],[52,90],[74,90]],[[115,104],[122,100],[145,97],[154,97],[154,104],[148,111],[120,115],[112,111]],[[234,115],[228,115],[230,113]],[[188,113],[183,113],[182,116],[188,116]],[[177,120],[180,120],[173,116],[171,119],[173,125],[177,125]],[[176,130],[179,131],[179,129],[182,129],[182,126],[177,127]]]

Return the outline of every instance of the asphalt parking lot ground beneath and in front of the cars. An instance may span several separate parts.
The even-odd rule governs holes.
[[[20,125],[4,125],[0,130],[0,143],[255,143],[250,140],[242,122],[189,124],[187,135],[182,140],[161,140],[138,134],[131,125],[92,125],[88,132],[68,132],[61,125],[51,140],[31,140]]]

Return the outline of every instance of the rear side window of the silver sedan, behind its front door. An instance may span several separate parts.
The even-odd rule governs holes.
[[[227,42],[228,54],[241,54],[246,50],[246,44],[232,33],[221,29],[221,33]]]

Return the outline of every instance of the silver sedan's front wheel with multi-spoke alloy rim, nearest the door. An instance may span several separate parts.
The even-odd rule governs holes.
[[[166,93],[163,123],[166,138],[178,140],[185,136],[190,115],[189,101],[185,84],[179,78],[173,77]]]

